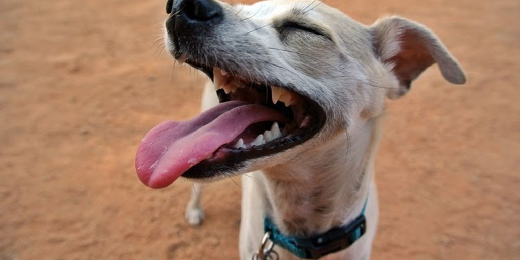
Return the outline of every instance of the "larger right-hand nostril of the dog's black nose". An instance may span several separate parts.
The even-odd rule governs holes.
[[[188,18],[198,21],[209,21],[223,14],[222,7],[213,0],[185,0],[181,8]]]

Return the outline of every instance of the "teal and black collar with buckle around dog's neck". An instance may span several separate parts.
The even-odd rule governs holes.
[[[284,236],[268,217],[264,218],[264,231],[269,234],[272,243],[288,250],[293,255],[304,259],[319,259],[328,254],[347,249],[365,233],[367,228],[365,209],[368,196],[361,209],[361,214],[353,222],[334,227],[320,235],[311,238]]]

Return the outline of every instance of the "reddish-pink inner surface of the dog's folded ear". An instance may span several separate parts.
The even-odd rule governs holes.
[[[410,88],[410,84],[428,67],[435,63],[430,55],[424,40],[412,30],[407,30],[399,38],[400,51],[387,60],[393,63],[394,73],[402,86]]]

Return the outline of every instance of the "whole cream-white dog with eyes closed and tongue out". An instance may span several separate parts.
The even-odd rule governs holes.
[[[199,116],[142,139],[142,183],[199,183],[186,210],[199,225],[201,183],[247,173],[241,259],[369,259],[386,100],[434,63],[466,81],[439,38],[400,17],[362,25],[316,0],[168,0],[166,11],[168,51],[210,80]]]

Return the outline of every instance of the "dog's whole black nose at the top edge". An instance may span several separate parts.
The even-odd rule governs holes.
[[[173,0],[166,3],[166,12],[173,9]],[[213,0],[180,0],[177,12],[182,13],[194,22],[208,22],[223,16],[223,9]]]

